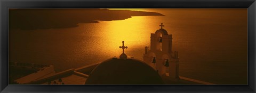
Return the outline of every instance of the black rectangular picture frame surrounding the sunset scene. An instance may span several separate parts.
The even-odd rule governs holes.
[[[1,92],[255,92],[255,0],[0,0]],[[8,85],[8,8],[247,8],[248,85]]]

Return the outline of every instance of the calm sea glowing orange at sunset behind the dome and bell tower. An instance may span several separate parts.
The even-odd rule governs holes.
[[[101,62],[122,53],[142,60],[150,33],[173,34],[180,76],[217,84],[247,84],[247,9],[140,9],[165,16],[79,23],[77,27],[10,30],[9,61],[52,64],[56,71]]]

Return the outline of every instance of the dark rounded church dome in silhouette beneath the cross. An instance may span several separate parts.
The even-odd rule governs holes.
[[[137,59],[112,58],[100,63],[91,72],[87,85],[161,85],[158,73]]]

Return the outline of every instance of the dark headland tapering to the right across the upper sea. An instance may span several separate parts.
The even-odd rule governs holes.
[[[129,10],[22,8],[9,10],[9,29],[57,29],[75,27],[77,23],[125,20],[131,16],[164,15],[156,12]]]

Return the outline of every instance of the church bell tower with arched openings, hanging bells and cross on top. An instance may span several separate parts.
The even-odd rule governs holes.
[[[151,33],[150,50],[145,47],[143,60],[158,71],[159,75],[178,79],[179,57],[178,51],[172,51],[172,34],[169,35],[163,29],[163,23],[159,26],[161,29]]]

